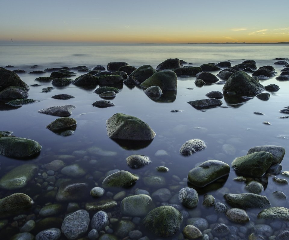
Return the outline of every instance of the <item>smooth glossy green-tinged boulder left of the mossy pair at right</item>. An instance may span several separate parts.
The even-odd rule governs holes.
[[[188,173],[188,182],[197,187],[204,187],[229,173],[228,164],[218,160],[209,160]]]

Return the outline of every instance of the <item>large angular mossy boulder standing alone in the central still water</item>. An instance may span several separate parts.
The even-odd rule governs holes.
[[[107,135],[111,139],[152,140],[155,132],[134,116],[116,113],[106,121]]]

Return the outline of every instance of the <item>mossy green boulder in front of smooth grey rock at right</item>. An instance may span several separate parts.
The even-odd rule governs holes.
[[[253,152],[235,158],[232,168],[241,175],[262,177],[273,163],[273,156],[269,152]]]

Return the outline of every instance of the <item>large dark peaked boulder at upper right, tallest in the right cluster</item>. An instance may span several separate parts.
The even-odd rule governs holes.
[[[224,92],[235,92],[238,95],[255,96],[265,90],[259,80],[249,76],[244,71],[233,73],[223,87]]]

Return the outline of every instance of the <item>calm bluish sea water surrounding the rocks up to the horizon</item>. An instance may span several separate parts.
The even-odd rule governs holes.
[[[107,63],[114,61],[125,61],[128,64],[140,67],[144,64],[149,64],[152,67],[157,67],[162,61],[168,58],[179,58],[187,63],[193,63],[193,66],[200,66],[204,63],[232,60],[232,65],[241,63],[244,59],[253,59],[256,61],[256,66],[261,67],[265,65],[272,65],[277,72],[276,76],[280,74],[283,68],[280,65],[273,65],[276,57],[288,57],[284,55],[287,52],[286,45],[193,45],[193,44],[134,44],[134,45],[81,45],[81,44],[59,44],[59,45],[18,45],[18,44],[2,44],[0,45],[0,66],[13,65],[10,70],[22,69],[27,72],[33,70],[44,70],[48,67],[75,67],[85,65],[92,68],[96,65],[107,66]],[[39,67],[30,69],[32,65]],[[83,73],[76,72],[77,76]],[[213,72],[217,74],[218,72]],[[39,83],[34,79],[39,76],[50,76],[50,73],[41,75],[35,74],[19,74],[20,78],[26,82],[27,85]],[[77,76],[72,77],[75,79]],[[70,157],[63,160],[66,165],[79,163],[86,171],[86,175],[81,181],[94,181],[94,184],[101,187],[103,176],[109,170],[119,169],[126,170],[137,174],[140,179],[137,183],[129,189],[112,190],[113,195],[125,190],[125,196],[134,194],[136,189],[145,189],[152,194],[157,189],[150,189],[146,187],[142,178],[148,175],[162,175],[166,178],[166,188],[169,188],[172,195],[178,193],[182,187],[187,187],[186,177],[189,170],[199,165],[200,163],[215,159],[231,164],[232,161],[239,156],[246,155],[248,149],[254,146],[261,145],[278,145],[283,146],[287,150],[289,130],[287,128],[288,119],[279,119],[280,116],[286,116],[279,113],[279,110],[288,106],[288,82],[277,81],[275,77],[260,81],[261,84],[269,85],[277,84],[280,90],[276,93],[270,93],[271,97],[268,101],[262,101],[258,98],[253,98],[240,105],[232,105],[222,99],[222,106],[227,108],[213,108],[202,112],[196,110],[188,101],[206,98],[205,94],[217,90],[222,91],[223,85],[205,85],[201,88],[194,85],[195,77],[179,77],[178,89],[176,96],[173,96],[171,102],[157,102],[148,98],[143,90],[134,87],[128,88],[126,85],[121,87],[121,92],[117,94],[116,98],[110,100],[116,106],[110,108],[100,109],[93,107],[91,104],[95,101],[101,100],[93,89],[79,88],[74,85],[67,87],[54,87],[51,92],[41,93],[41,89],[51,86],[51,83],[39,83],[42,86],[30,87],[29,98],[40,100],[33,104],[24,105],[19,108],[3,110],[0,107],[1,117],[0,126],[1,131],[13,131],[17,137],[24,137],[33,139],[42,146],[40,155],[32,160],[39,166],[38,173],[42,175],[46,172],[43,167],[55,159],[61,159],[61,155],[74,155],[76,150],[87,150],[90,147],[99,147],[105,151],[106,154],[113,156],[101,156],[94,154],[85,154],[84,157]],[[191,88],[191,89],[188,89]],[[57,100],[51,98],[57,94],[70,94],[75,98],[69,100]],[[71,117],[76,119],[77,128],[72,136],[62,137],[54,134],[45,128],[50,122],[57,119],[55,116],[37,113],[38,110],[51,107],[74,105]],[[5,106],[5,105],[1,105]],[[179,113],[172,113],[171,110],[182,110]],[[262,112],[265,115],[255,115],[253,112]],[[115,113],[125,113],[136,116],[148,123],[148,125],[156,132],[154,140],[145,148],[138,150],[123,149],[118,143],[107,137],[106,120]],[[267,121],[272,125],[265,125],[262,122]],[[183,157],[179,154],[179,149],[185,141],[198,138],[207,143],[207,149],[197,152],[192,156]],[[226,149],[229,147],[229,150]],[[166,155],[156,155],[158,150],[165,150]],[[104,155],[106,155],[104,154]],[[116,155],[114,155],[116,154]],[[152,163],[146,167],[134,170],[126,165],[126,158],[132,154],[146,155],[151,158]],[[102,154],[103,155],[103,154]],[[12,168],[27,163],[27,161],[15,160],[0,156],[1,170],[0,177]],[[168,173],[157,173],[155,167],[166,166],[169,168]],[[283,171],[289,170],[288,156],[285,154],[282,161]],[[97,172],[97,174],[96,174]],[[98,173],[100,172],[100,173]],[[65,178],[60,171],[56,173],[56,179]],[[202,207],[202,201],[205,193],[212,194],[216,198],[216,202],[225,203],[223,198],[224,193],[244,193],[244,183],[236,183],[232,179],[237,175],[234,170],[228,176],[228,179],[223,183],[221,188],[206,191],[199,191],[199,203],[197,208],[189,211],[190,217],[206,217],[213,214],[212,208],[205,209]],[[284,178],[279,175],[278,177]],[[89,179],[89,180],[88,180]],[[80,181],[80,180],[79,180]],[[40,187],[35,187],[36,183]],[[35,176],[31,182],[23,189],[7,191],[0,190],[0,198],[8,196],[14,192],[23,192],[35,199],[36,206],[28,213],[35,214],[35,221],[41,220],[43,217],[38,215],[37,209],[42,208],[46,203],[56,203],[55,200],[48,200],[43,202],[37,200],[42,196],[47,189],[43,183],[45,178],[42,176]],[[48,183],[55,187],[54,184]],[[178,187],[175,187],[178,186]],[[272,199],[271,193],[273,191],[282,191],[288,196],[287,185],[277,185],[272,181],[272,177],[268,179],[268,185],[262,195],[267,196],[272,206],[287,206],[287,203],[276,202]],[[106,190],[106,193],[110,190]],[[105,199],[112,199],[108,194]],[[40,197],[41,199],[41,197]],[[78,202],[80,208],[84,208],[85,202],[94,201],[90,196]],[[112,217],[121,218],[120,201],[118,199],[118,206],[106,211]],[[171,200],[172,203],[173,200]],[[155,201],[159,206],[161,203]],[[174,203],[174,202],[173,202]],[[67,203],[64,203],[66,209]],[[181,207],[181,210],[188,210]],[[251,222],[255,222],[256,214],[259,209],[247,210]],[[60,212],[57,217],[64,218],[66,211]],[[91,217],[95,212],[91,213]],[[14,221],[13,217],[8,218],[8,225],[1,231],[7,236],[19,232],[19,228],[23,222],[19,222],[19,227],[11,227]],[[180,232],[185,227],[186,219],[183,222]],[[22,224],[22,225],[21,225]],[[228,223],[228,225],[235,225]],[[57,226],[60,227],[60,226]],[[110,225],[110,228],[115,231],[116,226]],[[149,235],[141,224],[137,225],[135,229],[140,228],[144,235]],[[35,229],[33,234],[36,234]],[[176,233],[175,236],[178,236]],[[150,238],[154,238],[149,235]],[[64,236],[63,236],[64,237]],[[66,239],[65,237],[63,239]]]

